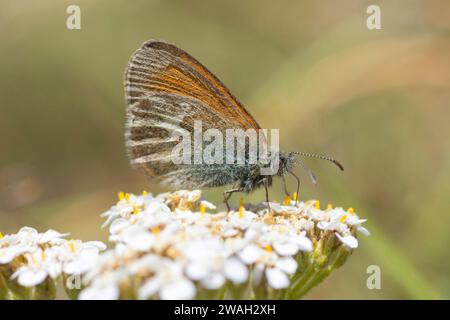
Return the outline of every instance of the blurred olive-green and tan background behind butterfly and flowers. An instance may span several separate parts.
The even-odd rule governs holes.
[[[0,1],[1,232],[106,240],[118,191],[163,191],[128,165],[122,87],[131,53],[163,39],[281,128],[282,149],[344,164],[305,160],[319,185],[298,168],[300,196],[355,207],[372,236],[307,298],[450,297],[449,1],[80,0],[81,30],[70,4]],[[370,4],[382,30],[366,28]],[[373,264],[381,290],[366,287]]]

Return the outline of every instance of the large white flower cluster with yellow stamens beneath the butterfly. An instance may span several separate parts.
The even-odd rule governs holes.
[[[356,231],[368,234],[351,208],[290,198],[270,207],[209,213],[215,206],[199,190],[119,193],[103,214],[116,246],[85,273],[79,298],[268,297],[295,284],[299,264],[327,255],[325,247],[350,252]]]

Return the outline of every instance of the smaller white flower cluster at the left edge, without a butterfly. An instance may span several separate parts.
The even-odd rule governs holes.
[[[66,240],[68,233],[39,233],[23,227],[16,234],[0,236],[0,277],[31,288],[62,274],[81,274],[96,262],[106,246],[99,241]]]

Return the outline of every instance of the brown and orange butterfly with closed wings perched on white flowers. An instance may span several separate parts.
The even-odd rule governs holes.
[[[149,177],[171,188],[204,188],[233,185],[224,191],[225,204],[234,192],[266,191],[273,177],[292,172],[296,155],[336,160],[304,152],[277,152],[276,172],[261,174],[261,163],[174,163],[172,151],[179,143],[174,133],[193,132],[195,121],[203,129],[254,129],[261,127],[225,85],[184,50],[163,41],[149,40],[133,53],[125,71],[127,123],[125,140],[130,162]],[[247,154],[247,153],[246,153]],[[192,155],[193,156],[193,155]],[[264,164],[265,166],[267,164]],[[310,170],[309,170],[310,172]],[[315,176],[310,172],[313,182]],[[285,187],[285,192],[287,192]]]

